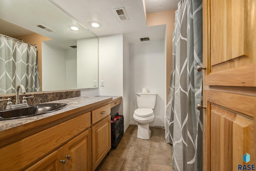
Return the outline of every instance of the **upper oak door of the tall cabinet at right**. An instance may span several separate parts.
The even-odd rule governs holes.
[[[203,1],[205,85],[256,86],[256,3]]]

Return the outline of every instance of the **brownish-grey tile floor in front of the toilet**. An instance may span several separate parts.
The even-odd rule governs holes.
[[[142,140],[137,138],[137,126],[130,125],[96,171],[172,171],[172,145],[166,143],[164,128],[150,130],[150,139]]]

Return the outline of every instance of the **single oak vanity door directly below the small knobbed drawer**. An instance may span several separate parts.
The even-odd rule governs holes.
[[[92,126],[92,170],[100,164],[111,149],[110,116]]]

